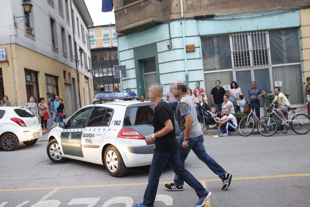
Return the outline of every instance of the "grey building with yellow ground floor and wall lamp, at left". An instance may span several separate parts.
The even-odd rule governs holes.
[[[91,103],[94,94],[88,26],[93,25],[83,0],[25,0],[0,2],[0,96],[25,106],[30,96],[63,98],[68,115]],[[15,18],[14,16],[27,16]],[[80,54],[79,49],[83,52]],[[0,49],[0,50],[1,50]]]

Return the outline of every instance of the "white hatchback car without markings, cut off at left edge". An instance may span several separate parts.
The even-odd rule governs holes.
[[[42,137],[39,119],[26,107],[0,107],[0,147],[16,150],[20,142],[33,145]]]

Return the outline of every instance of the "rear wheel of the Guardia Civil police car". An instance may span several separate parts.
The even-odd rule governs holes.
[[[123,158],[115,146],[110,145],[104,153],[104,165],[108,173],[113,177],[122,177],[127,173]]]

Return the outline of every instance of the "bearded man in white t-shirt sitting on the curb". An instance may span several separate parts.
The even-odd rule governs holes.
[[[217,121],[219,127],[221,128],[220,137],[228,137],[229,132],[236,131],[238,127],[237,119],[234,115],[230,113],[229,109],[225,109],[225,115]]]

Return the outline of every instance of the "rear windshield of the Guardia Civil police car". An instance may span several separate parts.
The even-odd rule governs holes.
[[[124,126],[150,124],[155,106],[138,106],[127,108],[124,116]]]

